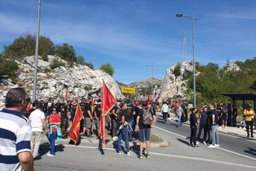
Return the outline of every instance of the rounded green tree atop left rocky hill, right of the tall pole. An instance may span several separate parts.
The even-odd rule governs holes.
[[[61,59],[64,59],[65,61],[77,62],[74,48],[73,46],[68,45],[68,43],[63,43],[63,45],[57,45],[56,54],[57,56],[59,56]]]

